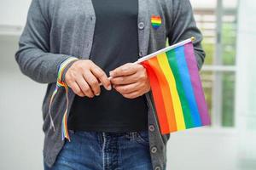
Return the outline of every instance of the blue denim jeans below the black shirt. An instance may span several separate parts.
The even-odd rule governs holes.
[[[152,170],[148,131],[69,131],[53,167],[44,170]]]

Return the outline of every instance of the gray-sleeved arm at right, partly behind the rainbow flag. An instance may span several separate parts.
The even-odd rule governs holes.
[[[195,24],[193,10],[189,0],[173,0],[172,14],[169,14],[168,40],[169,44],[181,42],[184,39],[195,37],[194,49],[198,68],[201,69],[205,59],[205,52],[201,48],[202,35],[201,31]]]

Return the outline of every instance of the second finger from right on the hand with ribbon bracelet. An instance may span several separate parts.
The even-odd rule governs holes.
[[[101,94],[101,88],[98,80],[90,71],[84,71],[83,77],[85,81],[90,85],[90,89],[92,89],[93,94],[96,96]]]

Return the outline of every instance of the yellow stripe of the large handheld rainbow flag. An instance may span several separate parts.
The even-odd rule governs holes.
[[[177,94],[175,78],[170,68],[166,53],[159,54],[157,56],[157,59],[160,63],[160,67],[162,71],[167,77],[166,80],[169,84],[169,88],[172,94],[172,102],[173,102],[173,109],[175,111],[177,130],[184,130],[186,129],[186,126],[185,126],[184,117],[183,117],[183,110],[182,110],[180,99]]]

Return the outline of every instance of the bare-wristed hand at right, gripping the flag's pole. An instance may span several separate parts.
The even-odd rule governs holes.
[[[150,90],[150,83],[143,65],[128,63],[110,71],[113,88],[127,99],[135,99]]]

